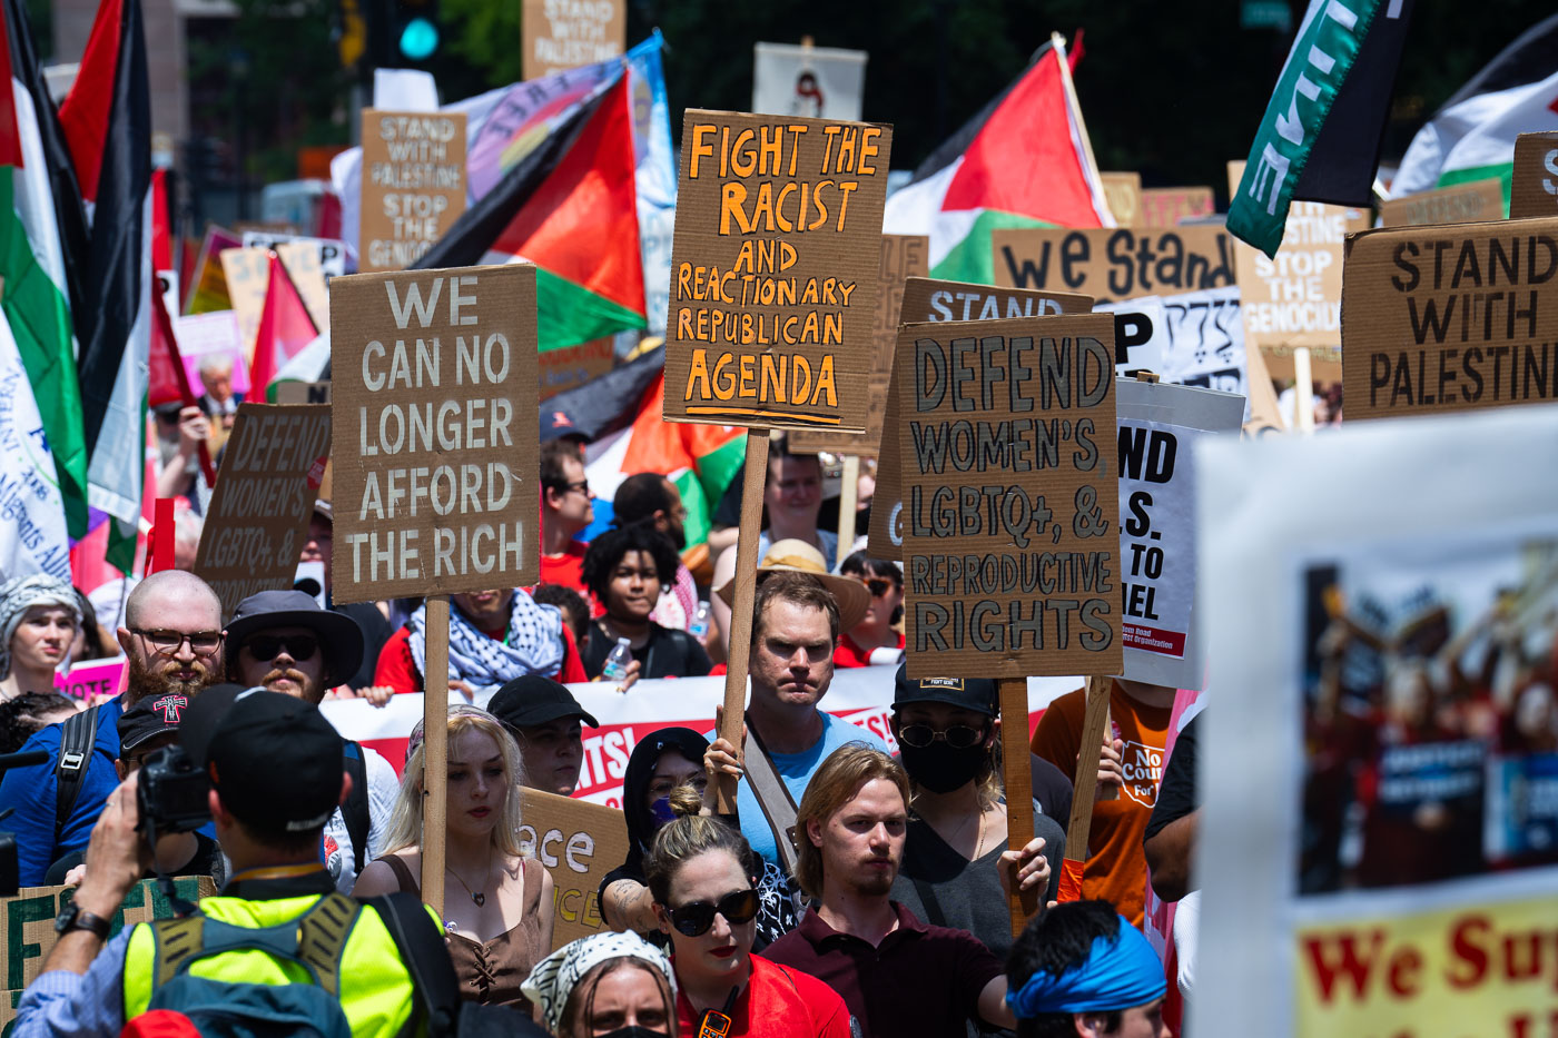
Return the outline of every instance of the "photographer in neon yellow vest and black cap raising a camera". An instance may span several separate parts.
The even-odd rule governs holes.
[[[324,824],[349,790],[343,740],[313,704],[232,686],[201,695],[179,747],[148,757],[109,796],[86,879],[55,923],[59,941],[17,1007],[16,1038],[114,1038],[157,1008],[196,1029],[221,1019],[279,1033],[427,1033],[413,1019],[413,976],[450,969],[436,923],[419,907],[337,893],[319,863]],[[203,814],[234,868],[221,893],[195,915],[109,940],[151,863],[148,837],[192,829]],[[394,934],[407,932],[422,940],[404,957]]]

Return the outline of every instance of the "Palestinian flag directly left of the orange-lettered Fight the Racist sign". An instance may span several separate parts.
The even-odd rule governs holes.
[[[542,351],[645,326],[626,76],[580,104],[416,267],[520,260],[536,265]]]

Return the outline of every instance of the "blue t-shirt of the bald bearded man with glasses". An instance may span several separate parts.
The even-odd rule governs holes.
[[[87,759],[87,773],[81,782],[76,806],[59,832],[55,845],[55,803],[59,790],[55,768],[59,765],[59,740],[62,725],[50,725],[26,740],[23,753],[44,750],[47,764],[11,768],[0,779],[0,810],[11,807],[16,814],[0,828],[16,832],[16,859],[23,887],[39,887],[44,874],[56,860],[72,851],[86,851],[92,839],[92,826],[103,814],[109,793],[118,787],[118,717],[125,712],[123,697],[114,697],[98,708],[97,742]]]

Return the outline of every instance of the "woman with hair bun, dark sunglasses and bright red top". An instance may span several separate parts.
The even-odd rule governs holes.
[[[686,810],[689,800],[673,803]],[[746,839],[715,818],[676,818],[654,837],[645,871],[675,952],[678,1033],[704,1033],[707,1019],[726,1038],[848,1038],[837,991],[753,954],[751,860]]]

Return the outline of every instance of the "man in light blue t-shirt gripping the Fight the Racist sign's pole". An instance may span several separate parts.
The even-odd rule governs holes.
[[[735,807],[740,812],[742,835],[754,851],[781,867],[787,862],[779,854],[770,815],[785,818],[785,828],[791,826],[795,804],[805,795],[812,775],[838,747],[863,742],[887,751],[880,737],[818,709],[818,701],[834,680],[838,630],[838,602],[821,578],[779,570],[765,575],[757,584],[753,651],[748,661],[753,695],[746,706],[746,729],[773,762],[791,803],[759,804],[753,768],[748,767],[737,786]],[[710,750],[717,767],[740,773],[734,747],[715,740]]]

